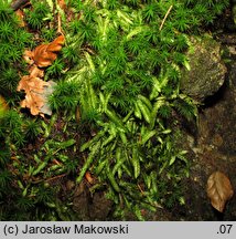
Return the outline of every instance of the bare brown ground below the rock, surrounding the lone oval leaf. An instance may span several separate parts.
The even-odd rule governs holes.
[[[190,178],[185,183],[190,186],[185,194],[187,216],[184,220],[236,220],[236,194],[227,202],[225,211],[219,214],[211,206],[205,191],[207,178],[216,170],[227,175],[234,190],[236,188],[236,63],[235,55],[229,51],[228,54],[232,61],[227,63],[224,86],[207,102],[210,104],[202,107],[199,115],[199,131],[194,137],[196,146],[191,135],[182,131],[183,146],[191,160]]]

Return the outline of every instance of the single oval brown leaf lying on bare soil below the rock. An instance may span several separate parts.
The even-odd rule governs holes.
[[[230,180],[221,172],[215,172],[208,177],[206,191],[212,206],[221,212],[234,194]]]

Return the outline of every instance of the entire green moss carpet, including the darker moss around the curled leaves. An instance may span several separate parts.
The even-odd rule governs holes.
[[[12,107],[0,118],[0,202],[9,204],[0,215],[73,219],[69,204],[58,199],[61,187],[53,189],[47,179],[65,174],[79,184],[87,170],[114,200],[117,219],[129,210],[143,220],[143,208],[183,204],[190,162],[169,117],[197,116],[195,102],[179,92],[180,69],[187,67],[190,35],[202,34],[228,1],[67,2],[74,15],[69,23],[62,20],[66,43],[46,69],[46,80],[57,85],[50,98],[54,114],[44,119],[20,113],[22,52],[33,43],[7,1],[0,6],[0,94]],[[47,1],[32,1],[24,11],[30,29],[52,41],[49,22],[56,25],[56,18]]]

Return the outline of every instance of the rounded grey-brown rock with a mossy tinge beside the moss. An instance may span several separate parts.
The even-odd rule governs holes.
[[[226,66],[221,60],[221,45],[211,37],[191,38],[186,53],[190,70],[182,70],[181,91],[199,102],[213,95],[223,85]]]

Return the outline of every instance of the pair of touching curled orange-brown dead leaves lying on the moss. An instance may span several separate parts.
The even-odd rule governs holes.
[[[21,77],[18,91],[25,92],[25,98],[20,105],[21,107],[29,108],[32,115],[52,115],[49,97],[53,93],[56,83],[53,81],[43,81],[44,70],[41,67],[52,65],[57,58],[57,53],[62,50],[64,42],[64,35],[60,35],[49,44],[41,44],[33,51],[24,52],[23,58],[31,65],[29,70],[30,75]]]

